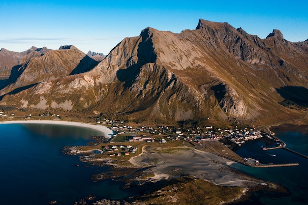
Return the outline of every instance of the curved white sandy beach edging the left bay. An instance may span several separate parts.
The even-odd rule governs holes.
[[[3,121],[0,124],[59,124],[67,126],[78,126],[97,130],[102,133],[107,138],[112,138],[113,131],[108,127],[99,124],[87,124],[82,122],[69,122],[61,120],[24,120],[24,121]]]

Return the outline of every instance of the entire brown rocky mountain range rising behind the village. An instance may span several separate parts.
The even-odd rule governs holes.
[[[106,57],[74,46],[1,49],[0,69],[10,71],[0,105],[24,109],[259,125],[301,117],[308,106],[307,40],[289,42],[277,29],[260,39],[202,19],[181,33],[146,28]]]

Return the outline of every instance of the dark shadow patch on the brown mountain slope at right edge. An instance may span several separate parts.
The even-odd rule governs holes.
[[[308,107],[308,89],[299,86],[285,86],[276,88],[276,91],[284,98],[279,104],[283,106]]]

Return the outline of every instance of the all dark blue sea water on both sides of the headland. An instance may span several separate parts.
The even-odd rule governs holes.
[[[288,148],[308,155],[307,127],[276,127],[272,129]],[[101,180],[91,176],[106,171],[79,161],[78,156],[62,154],[63,146],[86,145],[98,131],[76,126],[51,124],[0,124],[0,204],[1,205],[73,205],[95,195],[97,199],[122,199],[132,196],[123,190],[123,182]],[[242,157],[259,159],[261,163],[296,163],[299,166],[252,168],[233,163],[232,167],[251,176],[280,183],[290,194],[255,192],[242,204],[306,205],[308,204],[308,159],[292,152],[275,149],[268,140],[246,142],[235,150]],[[270,155],[275,154],[276,157]],[[76,164],[79,166],[77,167]]]

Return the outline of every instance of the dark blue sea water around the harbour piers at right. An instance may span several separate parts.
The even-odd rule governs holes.
[[[286,147],[308,156],[308,127],[281,125],[271,129]],[[260,160],[262,164],[299,163],[299,166],[253,168],[238,163],[232,167],[251,176],[275,181],[284,186],[289,194],[259,191],[242,204],[250,205],[307,205],[308,204],[308,159],[284,149],[262,150],[261,146],[275,146],[268,140],[254,140],[235,150],[242,157]]]

